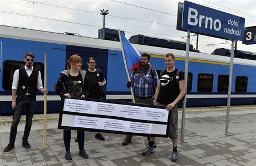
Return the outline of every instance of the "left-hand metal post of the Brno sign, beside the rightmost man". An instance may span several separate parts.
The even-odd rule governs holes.
[[[186,32],[186,60],[185,60],[185,94],[188,85],[188,71],[189,71],[189,44],[190,44],[190,31]],[[181,119],[181,134],[180,141],[184,142],[184,128],[185,128],[185,111],[186,111],[186,95],[184,96],[182,107],[182,119]]]

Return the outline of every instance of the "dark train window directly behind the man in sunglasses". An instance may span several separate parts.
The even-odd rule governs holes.
[[[14,61],[6,60],[3,62],[3,90],[12,90],[12,80],[15,70],[22,68],[24,66],[24,61]],[[44,75],[44,65],[42,63],[35,62],[33,64],[34,68],[41,71],[41,77],[43,82]]]

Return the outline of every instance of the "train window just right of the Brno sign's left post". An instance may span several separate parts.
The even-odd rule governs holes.
[[[198,74],[198,91],[213,91],[213,74]]]

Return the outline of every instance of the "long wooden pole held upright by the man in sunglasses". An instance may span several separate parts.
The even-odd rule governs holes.
[[[47,59],[46,59],[46,53],[45,53],[45,89],[47,89]],[[47,145],[47,95],[44,94],[43,99],[43,148],[46,148]]]

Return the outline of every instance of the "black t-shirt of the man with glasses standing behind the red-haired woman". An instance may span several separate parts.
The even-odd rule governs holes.
[[[100,79],[99,79],[100,77]],[[95,72],[86,71],[85,81],[88,83],[88,91],[90,98],[101,98],[99,82],[104,81],[103,72],[99,69]]]

